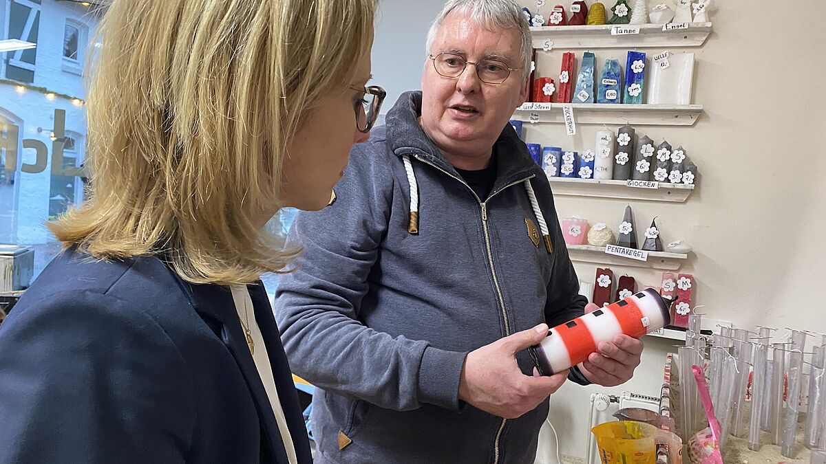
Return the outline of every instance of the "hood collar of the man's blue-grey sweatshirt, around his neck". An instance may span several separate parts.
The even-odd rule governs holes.
[[[419,156],[442,168],[453,177],[461,178],[419,125],[421,95],[420,91],[402,93],[396,104],[387,112],[385,120],[387,145],[396,156],[402,154]],[[531,159],[525,143],[516,135],[510,124],[505,125],[494,145],[498,156],[496,158],[496,182],[491,192],[497,192],[510,183],[528,178],[539,171],[539,166]]]

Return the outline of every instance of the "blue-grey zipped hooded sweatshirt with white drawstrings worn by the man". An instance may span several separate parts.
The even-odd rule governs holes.
[[[551,189],[509,124],[477,198],[420,129],[420,107],[420,92],[403,94],[354,146],[335,203],[289,234],[304,251],[275,313],[292,371],[318,387],[316,462],[533,462],[548,400],[505,420],[458,386],[468,352],[583,314]],[[517,362],[531,374],[528,353]]]

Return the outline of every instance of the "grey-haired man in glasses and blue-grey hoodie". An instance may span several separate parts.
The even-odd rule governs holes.
[[[508,124],[530,53],[515,2],[448,2],[422,92],[354,147],[335,203],[297,216],[304,252],[275,311],[318,387],[316,462],[533,462],[566,377],[615,386],[638,365],[626,336],[549,377],[525,352],[586,305],[548,180]]]

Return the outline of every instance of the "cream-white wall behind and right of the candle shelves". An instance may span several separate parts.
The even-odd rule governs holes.
[[[533,0],[520,4],[532,11],[536,6]],[[606,7],[613,4],[605,2]],[[809,10],[816,4],[797,3]],[[786,327],[826,332],[826,252],[821,244],[826,230],[826,150],[820,140],[826,134],[820,90],[826,84],[824,35],[819,17],[776,6],[768,0],[748,5],[714,2],[714,32],[703,47],[686,49],[696,54],[694,102],[704,105],[704,116],[692,127],[637,126],[638,134],[664,137],[675,147],[682,144],[699,166],[699,185],[686,203],[631,204],[638,230],[657,215],[666,243],[685,239],[694,247],[693,258],[681,272],[694,274],[696,303],[705,305],[710,317],[746,328],[776,327],[781,334]],[[660,51],[643,50],[649,54],[649,65],[655,50]],[[563,51],[540,50],[538,75],[558,76]],[[578,70],[585,50],[572,51]],[[615,50],[613,56],[610,51],[591,51],[598,64],[600,59],[619,58],[624,67],[625,50]],[[561,125],[534,125],[526,130],[526,139],[592,149],[598,129],[578,125],[577,135],[571,137]],[[570,196],[558,196],[556,201],[560,217],[605,221],[615,231],[627,204]],[[596,265],[575,267],[582,280],[593,282]],[[656,286],[661,276],[638,268],[611,268],[650,286]],[[666,353],[676,342],[644,341],[643,364],[625,386],[566,385],[553,395],[550,419],[560,433],[563,455],[585,455],[586,408],[592,392],[658,394]]]

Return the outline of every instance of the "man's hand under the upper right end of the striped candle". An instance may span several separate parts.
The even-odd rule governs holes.
[[[617,335],[610,342],[602,342],[598,353],[591,353],[579,364],[579,370],[591,383],[601,386],[618,386],[634,376],[643,353],[643,342],[628,335]]]

